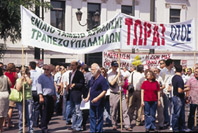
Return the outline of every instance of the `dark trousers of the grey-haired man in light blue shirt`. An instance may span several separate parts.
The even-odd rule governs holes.
[[[54,112],[54,99],[52,96],[44,96],[44,103],[41,105],[41,129],[47,132],[48,124]]]

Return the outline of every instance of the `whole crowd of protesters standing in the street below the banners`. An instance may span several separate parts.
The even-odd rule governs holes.
[[[108,70],[93,63],[90,67],[78,61],[70,66],[34,61],[28,67],[0,63],[0,130],[11,128],[16,107],[19,132],[23,132],[23,102],[9,101],[12,89],[25,88],[25,118],[29,132],[40,127],[48,132],[53,115],[62,115],[66,128],[73,131],[103,132],[103,124],[117,130],[120,108],[124,128],[132,131],[132,123],[145,125],[145,131],[193,131],[198,107],[198,65],[184,69],[172,59],[160,60],[159,66],[143,65],[118,68],[111,62]],[[121,102],[120,102],[121,100]],[[81,108],[89,102],[88,108]],[[185,105],[190,108],[185,125]],[[121,107],[120,107],[121,106]],[[55,112],[55,113],[54,113]],[[71,126],[68,126],[71,125]],[[69,128],[70,127],[70,128]]]

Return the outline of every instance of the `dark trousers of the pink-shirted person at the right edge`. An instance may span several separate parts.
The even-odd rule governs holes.
[[[195,121],[195,110],[198,108],[198,104],[190,104],[190,114],[188,117],[188,128],[194,129],[194,121]]]

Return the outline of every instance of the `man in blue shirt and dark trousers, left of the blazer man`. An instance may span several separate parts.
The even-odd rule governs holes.
[[[52,69],[50,65],[44,66],[44,74],[38,78],[37,93],[39,95],[39,103],[41,104],[41,129],[42,133],[48,132],[48,124],[53,116],[54,102],[56,101],[56,89],[54,80],[51,75]]]

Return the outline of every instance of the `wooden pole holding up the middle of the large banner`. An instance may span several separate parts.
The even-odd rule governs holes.
[[[119,66],[119,73],[120,71],[120,49],[118,49],[118,66]],[[121,82],[121,79],[119,78],[119,82]],[[122,124],[122,88],[119,85],[119,90],[120,90],[120,124],[121,124],[121,130],[123,129],[123,124]]]

